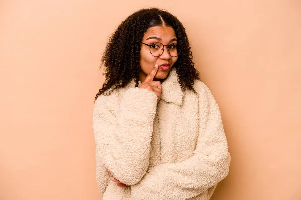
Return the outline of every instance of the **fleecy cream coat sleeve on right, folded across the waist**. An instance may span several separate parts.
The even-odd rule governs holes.
[[[199,136],[194,154],[179,163],[156,165],[131,187],[132,199],[188,199],[203,193],[229,172],[230,154],[219,107],[210,90],[196,82]]]

